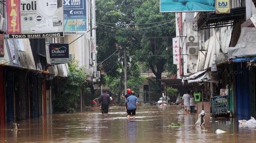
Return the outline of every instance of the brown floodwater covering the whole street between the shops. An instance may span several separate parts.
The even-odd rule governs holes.
[[[17,121],[1,127],[0,142],[64,143],[167,143],[167,142],[255,142],[255,127],[238,125],[237,118],[205,116],[205,126],[196,126],[197,114],[184,115],[183,107],[139,106],[136,120],[126,119],[124,107],[111,107],[101,114],[100,107],[83,113],[51,114],[46,118]],[[171,123],[184,126],[169,127]],[[227,131],[216,134],[216,129]]]

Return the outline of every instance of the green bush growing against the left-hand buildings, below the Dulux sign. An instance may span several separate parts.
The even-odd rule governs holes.
[[[78,62],[73,59],[69,62],[69,74],[67,78],[60,78],[56,82],[57,94],[54,103],[54,111],[67,111],[69,108],[77,108],[76,100],[84,88],[86,73],[77,69]]]

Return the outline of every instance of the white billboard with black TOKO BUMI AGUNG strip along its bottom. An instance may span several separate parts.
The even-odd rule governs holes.
[[[62,2],[20,0],[21,34],[9,34],[9,38],[63,37]]]

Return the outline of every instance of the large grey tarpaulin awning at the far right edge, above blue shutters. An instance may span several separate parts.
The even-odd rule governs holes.
[[[235,47],[229,47],[227,55],[233,62],[244,61],[244,57],[250,60],[256,56],[256,28],[255,27],[244,27],[241,28],[241,34]],[[238,60],[240,59],[241,60]]]

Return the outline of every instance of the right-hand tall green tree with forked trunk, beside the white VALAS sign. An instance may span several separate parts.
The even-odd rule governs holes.
[[[175,14],[160,13],[159,0],[146,0],[141,7],[134,10],[134,15],[142,37],[140,47],[134,49],[136,50],[134,57],[136,61],[148,64],[156,76],[155,84],[158,86],[156,89],[160,92],[161,82],[159,79],[162,77],[162,72],[166,69],[174,70],[176,66],[172,64],[172,56],[168,56],[166,50],[166,46],[171,45],[168,38],[150,37],[175,36]],[[147,25],[139,25],[143,23]]]

